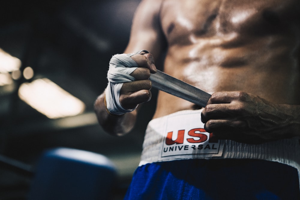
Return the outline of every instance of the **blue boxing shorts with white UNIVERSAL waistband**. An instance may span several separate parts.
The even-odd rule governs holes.
[[[125,199],[300,199],[298,139],[217,140],[201,110],[149,122]]]

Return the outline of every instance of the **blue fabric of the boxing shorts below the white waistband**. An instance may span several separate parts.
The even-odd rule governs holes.
[[[300,199],[297,169],[254,159],[190,159],[137,168],[125,199]]]

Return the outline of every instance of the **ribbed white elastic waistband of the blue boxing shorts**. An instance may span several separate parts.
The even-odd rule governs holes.
[[[192,116],[192,117],[190,117]],[[232,140],[219,140],[217,143],[209,143],[208,139],[207,143],[175,143],[176,136],[173,139],[169,138],[172,145],[166,146],[166,137],[167,133],[170,131],[174,131],[174,134],[181,129],[190,129],[190,127],[201,128],[203,124],[200,120],[201,110],[184,110],[173,113],[171,115],[167,115],[161,118],[153,119],[149,122],[146,135],[143,143],[143,152],[141,156],[140,165],[144,165],[146,163],[153,163],[159,161],[170,161],[170,160],[181,160],[181,159],[191,159],[191,158],[205,158],[205,159],[225,159],[225,158],[237,158],[237,159],[262,159],[269,161],[276,161],[279,163],[284,163],[289,166],[295,167],[300,172],[300,145],[298,139],[283,139],[274,142],[267,142],[261,145],[248,145],[244,143],[238,143]],[[195,119],[196,120],[193,120]],[[192,122],[191,122],[192,121]],[[191,124],[195,121],[195,125]],[[186,125],[188,124],[188,125]],[[173,127],[174,129],[170,128]],[[184,128],[186,127],[186,128]],[[176,128],[178,130],[176,130]],[[200,130],[200,129],[199,129]],[[194,131],[195,132],[195,131]],[[193,132],[192,132],[193,133]],[[206,134],[209,138],[209,133],[200,133],[195,132],[196,134]],[[177,134],[177,133],[176,133]],[[179,132],[178,132],[179,134]],[[186,137],[193,138],[192,140],[199,140],[199,137],[191,137],[192,134],[187,135],[184,133],[184,141],[186,141]],[[204,135],[203,135],[204,136]],[[169,136],[170,137],[170,136]],[[205,136],[206,137],[206,136]],[[177,137],[178,139],[179,137]],[[182,141],[182,140],[180,140]],[[200,141],[200,140],[199,140]],[[216,142],[216,141],[214,141]],[[193,150],[189,153],[183,153],[184,148],[187,147],[191,149],[191,145],[195,145],[196,147],[199,144],[203,144],[204,146],[208,146],[208,152],[204,152],[204,146],[202,145],[201,150]],[[214,146],[215,145],[215,146]],[[172,152],[169,152],[170,147],[173,146]],[[175,149],[175,147],[177,148]],[[167,149],[169,148],[169,149]],[[213,152],[211,149],[217,149]],[[173,153],[176,151],[176,154]],[[300,176],[299,176],[300,177]]]

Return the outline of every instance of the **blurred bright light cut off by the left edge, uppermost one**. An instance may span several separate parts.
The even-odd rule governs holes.
[[[21,61],[0,48],[0,73],[8,73],[19,70]]]

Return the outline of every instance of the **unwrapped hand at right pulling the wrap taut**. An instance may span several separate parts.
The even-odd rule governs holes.
[[[212,94],[201,118],[205,130],[219,139],[260,144],[292,137],[284,106],[241,91]]]

